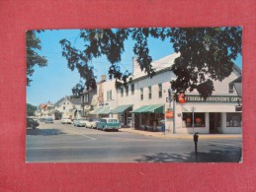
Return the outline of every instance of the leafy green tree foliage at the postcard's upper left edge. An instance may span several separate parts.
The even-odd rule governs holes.
[[[41,31],[38,31],[41,32]],[[36,31],[28,31],[26,33],[27,41],[27,86],[30,86],[32,80],[30,77],[33,76],[35,72],[35,66],[44,67],[47,65],[47,60],[45,57],[40,56],[37,50],[41,50],[41,40],[36,35]]]

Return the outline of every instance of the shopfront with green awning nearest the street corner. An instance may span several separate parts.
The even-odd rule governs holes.
[[[132,122],[135,129],[146,131],[157,131],[159,121],[164,119],[164,105],[143,105],[131,111]]]

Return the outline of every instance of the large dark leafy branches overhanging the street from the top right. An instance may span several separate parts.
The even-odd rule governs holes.
[[[241,28],[236,27],[81,30],[80,37],[85,42],[83,50],[75,48],[66,39],[60,40],[60,44],[68,67],[78,69],[88,90],[96,86],[93,66],[90,65],[93,58],[107,56],[111,63],[110,79],[116,79],[118,86],[126,86],[131,74],[128,71],[122,73],[119,63],[128,36],[134,41],[133,53],[141,71],[144,70],[149,77],[154,76],[155,70],[151,65],[148,37],[168,39],[175,52],[180,53],[171,68],[177,77],[171,82],[172,89],[177,95],[197,90],[206,98],[213,94],[212,80],[222,81],[231,74],[233,60],[241,54],[241,35]]]

